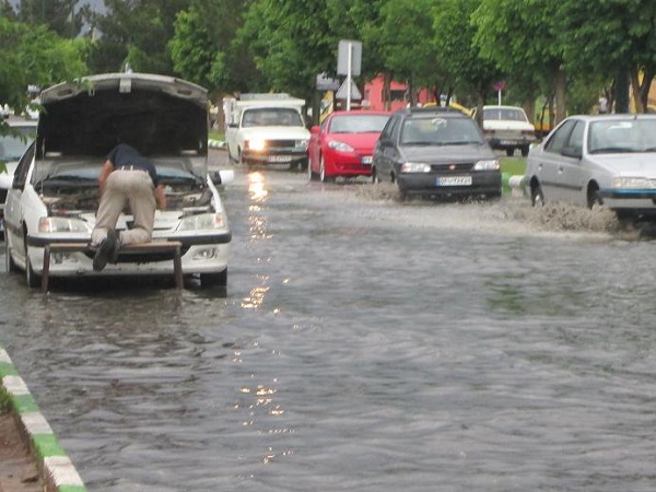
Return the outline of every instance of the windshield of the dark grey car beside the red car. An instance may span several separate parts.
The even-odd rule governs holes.
[[[482,144],[476,124],[469,118],[409,118],[401,129],[402,145]]]

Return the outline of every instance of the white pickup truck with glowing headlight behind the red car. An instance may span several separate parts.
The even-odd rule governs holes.
[[[225,143],[231,161],[247,165],[307,166],[309,131],[305,101],[289,94],[242,94],[223,99]]]

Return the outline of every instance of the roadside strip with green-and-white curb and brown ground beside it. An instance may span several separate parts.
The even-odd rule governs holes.
[[[86,492],[73,462],[2,347],[0,391],[0,401],[8,401],[10,407],[10,412],[0,419],[0,431],[8,432],[2,432],[0,440],[0,492]]]

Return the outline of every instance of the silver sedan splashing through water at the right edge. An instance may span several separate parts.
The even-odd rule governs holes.
[[[534,204],[605,204],[656,216],[656,115],[571,116],[528,154]]]

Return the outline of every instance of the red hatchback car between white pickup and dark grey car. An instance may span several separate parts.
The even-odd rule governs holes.
[[[333,112],[321,126],[309,130],[307,176],[321,181],[338,176],[371,176],[372,154],[383,127],[386,112]]]

